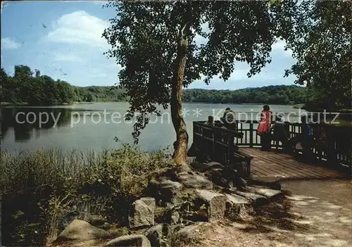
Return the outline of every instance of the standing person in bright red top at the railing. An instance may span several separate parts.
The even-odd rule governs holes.
[[[260,142],[262,151],[270,151],[271,137],[270,137],[270,125],[271,125],[272,112],[268,105],[263,106],[263,110],[260,114],[260,122],[257,129],[257,134],[260,135]]]

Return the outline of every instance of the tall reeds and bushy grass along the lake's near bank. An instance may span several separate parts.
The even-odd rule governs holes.
[[[149,176],[167,167],[167,152],[126,144],[101,153],[1,151],[2,243],[44,246],[70,220],[87,215],[124,226],[125,211],[144,194]]]

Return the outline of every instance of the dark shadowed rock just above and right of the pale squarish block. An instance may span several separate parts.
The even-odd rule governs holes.
[[[151,179],[149,182],[149,191],[151,196],[156,198],[158,205],[166,203],[177,203],[177,194],[182,189],[182,184],[172,181],[165,177]]]

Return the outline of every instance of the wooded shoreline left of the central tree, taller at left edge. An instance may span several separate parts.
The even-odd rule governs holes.
[[[123,93],[123,89],[113,87],[75,87],[41,75],[39,70],[33,72],[27,65],[15,65],[13,76],[1,68],[1,102],[51,106],[81,101],[124,101]]]

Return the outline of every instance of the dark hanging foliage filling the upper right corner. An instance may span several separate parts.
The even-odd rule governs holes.
[[[297,63],[287,70],[307,84],[308,109],[351,108],[351,1],[301,1],[288,39]]]

